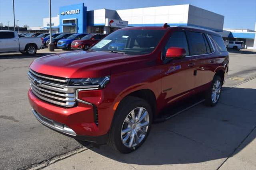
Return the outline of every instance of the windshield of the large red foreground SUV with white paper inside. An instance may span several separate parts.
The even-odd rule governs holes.
[[[114,51],[129,55],[143,55],[154,51],[166,30],[120,29],[94,45],[94,51]]]

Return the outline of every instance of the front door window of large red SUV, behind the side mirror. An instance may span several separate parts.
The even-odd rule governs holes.
[[[167,49],[170,47],[184,48],[186,50],[186,56],[189,55],[188,43],[187,43],[186,35],[183,31],[172,33],[170,39],[168,40],[165,46],[165,51],[163,52],[164,55],[166,54]]]

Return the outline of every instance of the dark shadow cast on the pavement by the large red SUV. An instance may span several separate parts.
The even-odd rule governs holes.
[[[90,149],[128,164],[188,164],[214,160],[220,165],[255,139],[256,133],[251,133],[256,130],[255,104],[256,89],[225,88],[217,106],[199,104],[163,123],[153,124],[142,147],[130,154],[121,154],[108,145]]]

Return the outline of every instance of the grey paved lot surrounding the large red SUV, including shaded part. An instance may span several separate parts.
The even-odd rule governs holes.
[[[61,53],[57,50],[54,53]],[[80,145],[41,125],[27,99],[29,64],[44,55],[0,54],[0,169],[256,169],[256,52],[230,51],[218,106],[199,104],[154,124],[136,152]]]

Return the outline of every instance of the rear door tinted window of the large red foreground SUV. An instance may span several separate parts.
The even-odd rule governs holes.
[[[188,32],[188,45],[190,55],[201,55],[207,53],[203,33]]]

